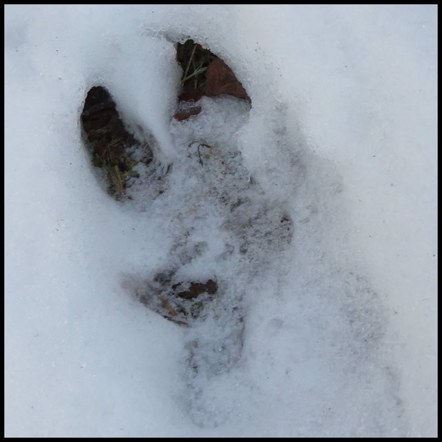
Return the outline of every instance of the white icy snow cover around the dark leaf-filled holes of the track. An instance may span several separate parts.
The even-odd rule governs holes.
[[[436,436],[436,7],[5,12],[6,436]],[[171,119],[188,37],[251,107]],[[153,147],[132,201],[97,84]],[[191,327],[137,301],[165,270],[218,280]]]

